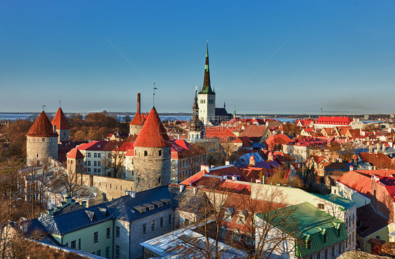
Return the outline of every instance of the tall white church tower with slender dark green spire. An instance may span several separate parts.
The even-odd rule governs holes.
[[[215,92],[212,91],[212,86],[210,84],[208,42],[206,48],[205,79],[203,80],[203,88],[199,92],[198,105],[199,118],[203,124],[208,125],[210,120],[215,119]]]

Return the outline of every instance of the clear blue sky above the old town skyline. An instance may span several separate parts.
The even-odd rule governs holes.
[[[0,112],[191,112],[207,40],[228,112],[395,112],[395,4],[360,0],[3,0]]]

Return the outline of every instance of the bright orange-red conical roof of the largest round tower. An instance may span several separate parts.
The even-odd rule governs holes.
[[[164,129],[162,121],[160,121],[155,107],[151,109],[150,115],[148,115],[143,128],[141,128],[140,134],[138,134],[134,142],[134,146],[171,147],[169,136],[167,135],[166,129]]]

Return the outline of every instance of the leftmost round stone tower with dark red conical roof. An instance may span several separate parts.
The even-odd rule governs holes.
[[[34,121],[26,136],[27,164],[37,164],[48,157],[58,159],[58,133],[54,131],[44,111]]]

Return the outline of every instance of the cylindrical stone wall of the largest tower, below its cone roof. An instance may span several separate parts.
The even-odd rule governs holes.
[[[169,185],[170,158],[170,147],[134,147],[134,190]]]

